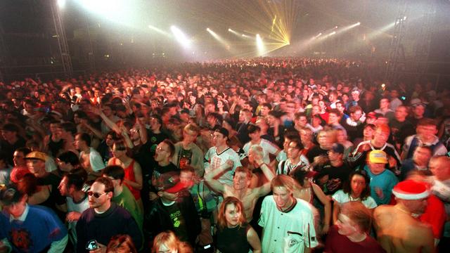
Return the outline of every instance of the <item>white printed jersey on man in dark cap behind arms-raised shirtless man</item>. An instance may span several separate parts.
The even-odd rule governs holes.
[[[227,148],[222,151],[222,153],[217,154],[217,148],[210,148],[205,154],[205,174],[210,173],[214,169],[218,169],[221,165],[225,164],[227,160],[233,161],[233,168],[227,170],[224,174],[219,177],[219,182],[226,183],[229,186],[233,185],[233,174],[237,167],[241,167],[240,158],[238,153],[236,153],[232,148]]]

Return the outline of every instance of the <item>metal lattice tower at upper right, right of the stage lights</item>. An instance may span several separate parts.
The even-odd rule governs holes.
[[[394,24],[394,34],[392,34],[390,53],[387,60],[385,79],[394,83],[399,77],[399,72],[405,71],[405,50],[403,39],[406,34],[406,13],[408,4],[406,0],[399,0],[397,6],[397,18]]]

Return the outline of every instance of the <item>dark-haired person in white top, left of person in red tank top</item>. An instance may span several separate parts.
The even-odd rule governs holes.
[[[79,163],[88,173],[88,180],[101,176],[101,170],[105,168],[105,164],[97,150],[90,147],[91,137],[88,134],[77,134],[74,145],[79,150]]]

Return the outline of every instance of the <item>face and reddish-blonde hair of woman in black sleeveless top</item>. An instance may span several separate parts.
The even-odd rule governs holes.
[[[217,217],[219,229],[242,226],[246,222],[243,212],[243,204],[237,197],[226,197],[220,205]]]

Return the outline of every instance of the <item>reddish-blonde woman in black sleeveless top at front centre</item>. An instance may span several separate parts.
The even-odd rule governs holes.
[[[222,253],[261,252],[256,231],[245,221],[243,205],[236,197],[226,197],[219,209],[216,247]]]

